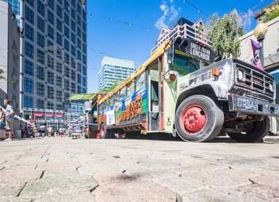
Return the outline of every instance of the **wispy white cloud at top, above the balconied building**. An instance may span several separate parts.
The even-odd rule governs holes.
[[[172,22],[176,20],[181,8],[175,8],[174,0],[163,0],[160,5],[160,10],[163,11],[163,15],[155,23],[156,28],[159,30],[162,29],[163,26],[167,26],[166,22]]]

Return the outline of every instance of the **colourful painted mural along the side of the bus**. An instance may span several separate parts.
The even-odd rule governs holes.
[[[98,124],[131,125],[146,122],[147,90],[146,87],[120,100],[108,109],[101,111]]]

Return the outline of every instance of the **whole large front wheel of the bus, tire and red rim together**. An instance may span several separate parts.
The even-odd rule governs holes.
[[[175,127],[184,141],[210,141],[223,127],[224,114],[204,95],[193,95],[181,102],[175,114]]]

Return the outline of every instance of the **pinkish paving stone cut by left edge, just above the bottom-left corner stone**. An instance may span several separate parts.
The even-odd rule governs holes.
[[[17,165],[5,167],[0,171],[0,184],[23,184],[40,178],[42,171],[35,170],[36,165]]]

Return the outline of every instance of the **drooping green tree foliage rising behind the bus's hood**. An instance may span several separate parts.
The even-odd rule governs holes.
[[[218,17],[214,13],[201,31],[204,31],[207,38],[212,42],[212,49],[218,56],[223,59],[229,56],[238,57],[240,54],[239,37],[244,34],[243,16],[239,15],[236,10],[225,14],[223,17]]]

